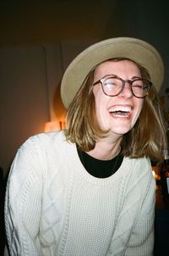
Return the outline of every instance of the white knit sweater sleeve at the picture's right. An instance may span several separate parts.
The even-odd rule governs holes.
[[[138,218],[128,241],[125,255],[150,256],[154,247],[154,219],[155,219],[155,179],[151,167],[147,167],[146,175],[140,182],[143,198]]]

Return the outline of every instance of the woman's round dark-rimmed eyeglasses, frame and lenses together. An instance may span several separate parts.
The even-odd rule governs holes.
[[[95,81],[93,86],[101,83],[102,91],[107,96],[114,97],[123,92],[126,82],[130,85],[134,97],[140,98],[146,97],[149,94],[150,86],[152,86],[152,82],[145,79],[123,80],[117,75],[106,75]]]

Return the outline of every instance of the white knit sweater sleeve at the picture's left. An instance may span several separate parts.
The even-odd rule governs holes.
[[[11,256],[41,255],[42,166],[35,143],[30,139],[19,148],[8,176],[5,226]]]

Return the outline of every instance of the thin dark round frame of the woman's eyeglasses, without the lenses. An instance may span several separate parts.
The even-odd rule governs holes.
[[[104,81],[106,81],[106,79],[111,78],[111,77],[112,77],[112,78],[115,78],[115,79],[117,79],[117,80],[119,80],[119,81],[122,81],[122,88],[121,88],[120,91],[119,91],[117,94],[115,94],[115,95],[109,95],[109,94],[107,94],[107,93],[104,91]],[[133,85],[134,81],[143,81],[143,82],[146,82],[146,83],[147,83],[147,85],[149,86],[149,88],[147,88],[147,93],[146,93],[143,97],[139,97],[139,98],[147,97],[147,95],[149,94],[149,91],[150,91],[150,86],[152,86],[152,82],[151,82],[151,81],[148,81],[148,80],[146,80],[146,79],[142,79],[142,78],[136,78],[136,79],[134,79],[134,80],[123,80],[121,77],[118,77],[117,75],[105,75],[105,76],[102,77],[100,80],[95,81],[95,83],[93,84],[93,86],[95,86],[95,85],[101,83],[102,91],[106,94],[106,96],[115,97],[115,96],[119,95],[121,92],[123,92],[123,88],[124,88],[125,84],[128,82],[128,84],[129,84],[130,87],[131,87],[131,92],[133,93],[134,97],[138,97],[138,96],[136,96],[136,95],[134,94],[134,92],[133,92],[133,86],[132,86],[132,85]]]

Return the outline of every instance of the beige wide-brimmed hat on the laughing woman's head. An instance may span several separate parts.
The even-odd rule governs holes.
[[[149,71],[157,92],[160,90],[164,78],[164,65],[155,47],[137,38],[115,37],[87,47],[68,65],[61,83],[61,97],[65,108],[68,109],[79,87],[95,65],[117,57],[130,58],[141,64]]]

